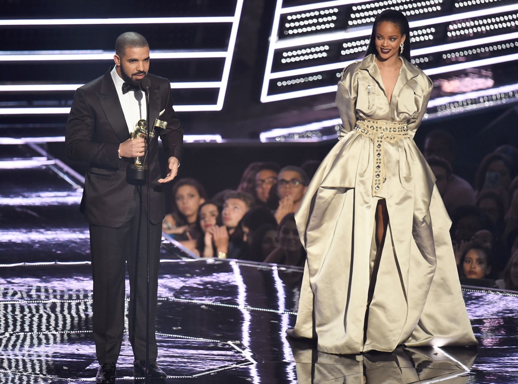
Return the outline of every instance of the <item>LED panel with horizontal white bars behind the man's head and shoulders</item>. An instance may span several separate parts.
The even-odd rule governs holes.
[[[163,37],[166,48],[157,47],[150,41],[151,72],[171,79],[171,87],[181,95],[175,104],[175,110],[221,110],[243,0],[234,2],[235,6],[225,6],[218,10],[222,13],[221,16],[0,20],[0,30],[6,36],[21,29],[35,31],[34,39],[43,36],[41,39],[46,39],[45,44],[52,45],[49,41],[53,41],[55,35],[60,35],[55,39],[57,42],[52,49],[44,50],[25,49],[31,48],[30,44],[27,47],[17,44],[9,46],[9,39],[4,39],[0,45],[0,114],[67,114],[75,90],[103,74],[113,64],[113,51],[103,49],[102,44],[99,44],[98,49],[95,48],[95,40],[100,40],[99,36],[103,35],[99,31],[105,31],[106,36],[111,36],[111,47],[114,45],[113,36],[117,36],[112,31],[120,31],[121,25],[127,26],[125,30],[142,28],[152,31],[149,34],[143,33],[148,40],[151,33],[156,34],[156,29],[160,29],[163,34],[160,37]],[[191,8],[191,13],[196,13],[194,4]],[[199,12],[204,13],[202,10]],[[156,11],[156,15],[162,13]],[[174,10],[169,10],[169,13],[174,13]],[[94,41],[91,42],[93,48],[84,49],[84,38],[81,36],[88,34],[95,34],[92,37]],[[214,44],[203,39],[207,35],[217,36]],[[31,32],[28,32],[28,36],[31,36]],[[74,41],[69,36],[78,37]],[[176,36],[178,41],[175,40]],[[182,40],[182,36],[186,38]],[[33,44],[36,45],[38,41]],[[94,74],[91,68],[104,69],[99,69],[100,72],[97,70]],[[197,68],[197,72],[193,74],[192,68]],[[16,77],[13,78],[13,74]],[[31,99],[27,95],[31,95]]]

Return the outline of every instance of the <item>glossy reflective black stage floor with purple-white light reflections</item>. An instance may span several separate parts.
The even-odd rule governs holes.
[[[47,165],[4,165],[0,177],[0,383],[93,383],[81,191]],[[192,259],[167,238],[162,252],[157,337],[166,383],[518,383],[516,293],[464,288],[477,348],[331,355],[285,337],[300,269]],[[132,363],[126,338],[118,382],[135,380]]]

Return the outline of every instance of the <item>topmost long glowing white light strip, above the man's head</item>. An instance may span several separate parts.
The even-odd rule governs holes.
[[[0,26],[232,23],[232,16],[0,20]]]

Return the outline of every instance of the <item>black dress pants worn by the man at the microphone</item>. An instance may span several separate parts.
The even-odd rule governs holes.
[[[146,193],[144,188],[142,193]],[[125,325],[126,265],[130,280],[130,342],[135,359],[146,360],[149,220],[146,207],[140,202],[140,187],[135,187],[133,200],[124,203],[129,210],[121,227],[90,225],[93,335],[99,364],[116,363],[119,358]],[[155,317],[162,223],[149,225],[149,358],[152,361],[157,357]]]

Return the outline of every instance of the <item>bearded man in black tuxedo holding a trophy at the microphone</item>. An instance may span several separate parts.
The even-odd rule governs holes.
[[[90,224],[94,289],[93,334],[99,362],[97,383],[115,381],[116,363],[124,332],[125,271],[130,276],[129,335],[135,356],[134,373],[165,378],[156,364],[155,317],[162,219],[163,184],[178,173],[183,130],[172,108],[170,83],[149,70],[149,46],[135,32],[116,41],[115,66],[76,91],[68,116],[65,143],[72,160],[88,162],[81,212]],[[150,127],[167,123],[146,143],[132,139],[140,119],[147,118],[142,79],[149,86]],[[164,124],[162,124],[164,125]],[[158,136],[166,154],[161,178]],[[126,169],[147,151],[149,173],[143,186],[126,181]],[[147,185],[149,181],[149,186]],[[148,203],[149,188],[149,203]],[[148,211],[149,207],[149,211]],[[148,244],[148,224],[149,244]],[[146,360],[147,257],[149,246],[149,360]]]

